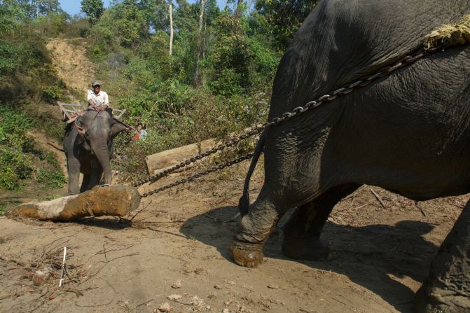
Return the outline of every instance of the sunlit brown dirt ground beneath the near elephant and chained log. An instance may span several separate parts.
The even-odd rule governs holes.
[[[253,199],[261,183],[254,179]],[[155,186],[141,190],[148,188]],[[142,199],[122,219],[2,217],[0,312],[412,312],[414,293],[468,199],[415,204],[373,187],[382,207],[363,186],[329,218],[327,260],[284,257],[284,218],[265,245],[265,263],[248,269],[228,253],[241,188],[241,179],[188,183]],[[59,289],[64,246],[68,274]],[[43,267],[53,277],[35,286],[32,272]]]

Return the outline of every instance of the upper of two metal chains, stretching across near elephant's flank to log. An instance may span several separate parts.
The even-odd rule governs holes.
[[[268,129],[269,127],[272,127],[274,125],[277,125],[279,123],[284,122],[285,120],[290,120],[294,116],[299,116],[302,113],[305,113],[306,111],[310,109],[315,109],[318,106],[330,102],[334,99],[336,99],[340,95],[346,95],[350,92],[352,92],[354,89],[358,89],[361,87],[364,87],[371,82],[377,80],[378,78],[383,78],[385,76],[391,75],[394,71],[401,69],[402,67],[406,67],[409,64],[412,64],[416,62],[417,60],[420,60],[422,57],[425,55],[429,55],[431,53],[435,53],[436,51],[443,50],[443,46],[437,46],[435,48],[430,48],[425,50],[424,48],[418,50],[416,53],[413,53],[411,55],[407,55],[406,57],[403,57],[401,60],[397,61],[395,64],[387,66],[387,67],[382,67],[379,69],[375,74],[364,76],[363,78],[359,79],[358,81],[354,81],[354,83],[349,83],[347,85],[343,85],[342,87],[334,90],[330,94],[322,95],[322,97],[319,97],[317,100],[312,100],[310,102],[307,102],[304,106],[298,106],[295,109],[292,110],[292,112],[286,112],[282,114],[282,116],[277,117],[277,118],[272,118],[272,120],[269,120],[268,122],[264,123],[261,126],[256,126],[252,127],[251,130],[245,132],[244,134],[234,137],[233,139],[230,139],[228,141],[225,141],[223,144],[216,146],[215,148],[212,148],[205,153],[201,153],[199,155],[196,155],[193,158],[189,158],[188,160],[184,160],[183,162],[179,163],[178,165],[174,165],[173,167],[170,167],[169,169],[165,169],[163,172],[160,172],[156,175],[150,176],[148,179],[144,179],[141,181],[136,181],[135,183],[132,183],[132,186],[138,187],[143,185],[144,183],[148,183],[148,181],[157,181],[158,179],[163,178],[164,176],[167,176],[168,174],[176,171],[177,169],[181,169],[182,167],[186,167],[187,165],[191,165],[192,163],[201,160],[202,158],[205,158],[209,155],[212,155],[216,153],[217,151],[221,151],[229,146],[233,146],[237,144],[238,142],[247,139],[249,137],[252,137],[256,134],[259,134],[263,130]],[[238,160],[238,159],[237,159]],[[246,159],[245,159],[246,160]],[[215,172],[215,171],[212,171]],[[209,174],[206,173],[206,174]],[[191,179],[192,180],[192,179]],[[173,185],[173,184],[172,184]],[[171,186],[171,185],[170,185]],[[174,185],[176,186],[176,185]],[[168,187],[170,188],[170,187]],[[166,188],[165,188],[166,189]]]

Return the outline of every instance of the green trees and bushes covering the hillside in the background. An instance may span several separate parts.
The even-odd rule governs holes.
[[[264,121],[282,51],[316,2],[258,0],[248,8],[239,0],[221,10],[215,0],[123,0],[104,9],[102,1],[84,0],[86,14],[71,17],[58,1],[0,0],[0,189],[63,185],[54,155],[35,149],[27,131],[60,141],[55,102],[85,102],[93,79],[111,106],[127,109],[125,123],[148,132],[145,140],[116,140],[113,167],[123,181],[146,176],[148,154]],[[46,48],[57,38],[85,49],[89,77],[57,72]]]

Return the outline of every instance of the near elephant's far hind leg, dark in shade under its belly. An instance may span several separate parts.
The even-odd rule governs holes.
[[[326,219],[336,203],[359,186],[357,183],[347,183],[330,188],[315,200],[298,207],[284,226],[284,254],[301,260],[326,259],[329,248],[320,240]]]

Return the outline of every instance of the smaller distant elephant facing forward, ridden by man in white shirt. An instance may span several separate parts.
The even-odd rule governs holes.
[[[113,138],[130,127],[111,116],[109,111],[87,110],[74,125],[68,127],[64,137],[64,152],[69,173],[69,195],[90,190],[102,179],[111,185],[110,158],[113,154]],[[81,188],[78,177],[83,173]]]

